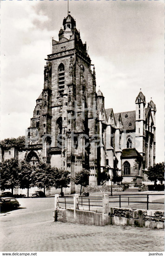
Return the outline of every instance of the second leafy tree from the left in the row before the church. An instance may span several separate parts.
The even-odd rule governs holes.
[[[29,188],[33,186],[33,167],[31,164],[21,161],[19,164],[19,171],[18,171],[18,179],[19,179],[19,186],[20,188],[28,189],[28,196],[29,196]]]

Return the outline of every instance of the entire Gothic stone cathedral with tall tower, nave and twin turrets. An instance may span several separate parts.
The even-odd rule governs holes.
[[[68,170],[72,177],[85,168],[92,186],[99,184],[99,173],[111,175],[115,168],[123,183],[139,185],[147,181],[145,171],[155,163],[155,113],[154,102],[146,104],[141,91],[132,111],[104,108],[86,43],[69,12],[59,40],[52,39],[26,146],[21,151],[12,148],[10,154],[4,150],[2,160],[15,157],[34,165],[42,161]],[[70,190],[75,192],[72,182]]]

